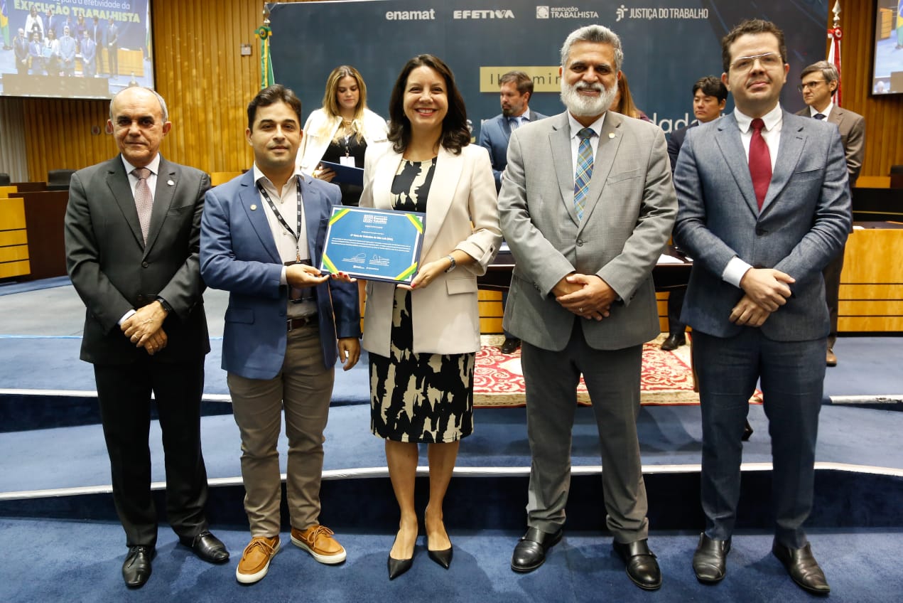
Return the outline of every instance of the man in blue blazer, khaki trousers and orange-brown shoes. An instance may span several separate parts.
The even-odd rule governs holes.
[[[301,101],[275,85],[247,107],[254,167],[207,193],[200,232],[200,273],[229,291],[222,367],[241,432],[241,473],[251,542],[236,579],[262,579],[279,550],[282,492],[279,438],[288,436],[286,487],[292,542],[321,563],[345,561],[345,550],[321,525],[323,429],[336,359],[358,362],[358,288],[320,276],[335,184],[296,168]]]

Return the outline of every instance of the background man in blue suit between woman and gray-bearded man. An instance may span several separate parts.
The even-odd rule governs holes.
[[[492,175],[496,179],[496,192],[502,186],[502,172],[507,165],[507,143],[511,132],[527,123],[545,118],[529,107],[533,96],[533,80],[524,71],[508,71],[498,78],[501,90],[502,112],[494,118],[487,119],[479,127],[477,144],[489,151],[492,162]],[[507,289],[502,292],[502,308],[507,306]],[[515,353],[520,347],[520,339],[505,331],[505,341],[501,345],[502,353]]]

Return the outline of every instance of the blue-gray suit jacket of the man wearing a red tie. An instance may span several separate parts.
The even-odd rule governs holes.
[[[737,256],[796,279],[787,304],[762,325],[776,341],[828,334],[822,269],[841,250],[852,223],[846,161],[837,128],[783,114],[777,162],[759,212],[734,113],[687,133],[675,169],[680,211],[675,243],[694,259],[681,322],[718,337],[743,291],[721,278]]]

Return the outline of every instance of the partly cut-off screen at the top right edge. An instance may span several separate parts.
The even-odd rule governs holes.
[[[872,94],[903,93],[903,0],[875,2]]]

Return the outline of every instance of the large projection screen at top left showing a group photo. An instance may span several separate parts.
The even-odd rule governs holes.
[[[109,99],[154,88],[150,0],[0,0],[0,95]]]

